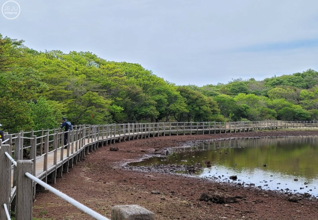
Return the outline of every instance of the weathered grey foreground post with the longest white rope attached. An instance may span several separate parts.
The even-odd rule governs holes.
[[[25,173],[33,175],[33,163],[30,160],[17,161],[17,199],[16,220],[32,219],[33,183]]]

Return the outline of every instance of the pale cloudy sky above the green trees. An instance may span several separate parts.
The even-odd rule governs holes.
[[[0,0],[3,37],[37,51],[89,51],[139,63],[176,85],[318,70],[315,0],[6,2]],[[10,10],[18,16],[6,18]]]

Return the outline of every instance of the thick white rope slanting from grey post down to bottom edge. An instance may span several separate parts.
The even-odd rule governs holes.
[[[78,208],[79,210],[85,212],[87,215],[92,216],[93,218],[97,219],[97,220],[110,220],[109,218],[106,218],[102,215],[100,215],[99,213],[95,212],[94,210],[88,208],[87,206],[83,205],[80,202],[77,202],[75,199],[69,197],[68,195],[60,192],[59,190],[53,188],[52,186],[46,184],[45,182],[39,180],[38,178],[36,178],[35,176],[33,176],[32,174],[26,172],[25,175],[27,177],[29,177],[31,180],[33,180],[34,182],[38,183],[39,185],[43,186],[44,188],[48,189],[49,191],[51,191],[52,193],[54,193],[55,195],[59,196],[60,198],[64,199],[66,202],[71,203],[73,206],[75,206],[76,208]]]

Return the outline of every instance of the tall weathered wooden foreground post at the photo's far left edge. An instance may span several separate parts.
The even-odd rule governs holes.
[[[3,144],[1,145],[0,150],[0,219],[7,219],[3,204],[7,205],[8,210],[10,210],[10,176],[11,176],[11,161],[10,159],[4,154],[7,152],[11,155],[10,145]]]

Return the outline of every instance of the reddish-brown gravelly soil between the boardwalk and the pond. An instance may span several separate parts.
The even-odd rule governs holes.
[[[318,219],[318,201],[297,195],[289,202],[288,195],[253,187],[190,178],[176,174],[124,168],[145,154],[179,146],[189,140],[230,137],[317,135],[317,131],[268,131],[211,135],[179,135],[155,137],[116,143],[119,151],[108,145],[90,152],[63,174],[53,186],[98,213],[111,218],[114,205],[137,204],[155,213],[156,220],[212,219]],[[159,194],[153,194],[158,191]],[[200,201],[202,193],[221,192],[239,196],[238,202],[216,204]],[[242,198],[243,197],[243,198]],[[33,216],[41,219],[93,219],[50,192],[37,193]]]

